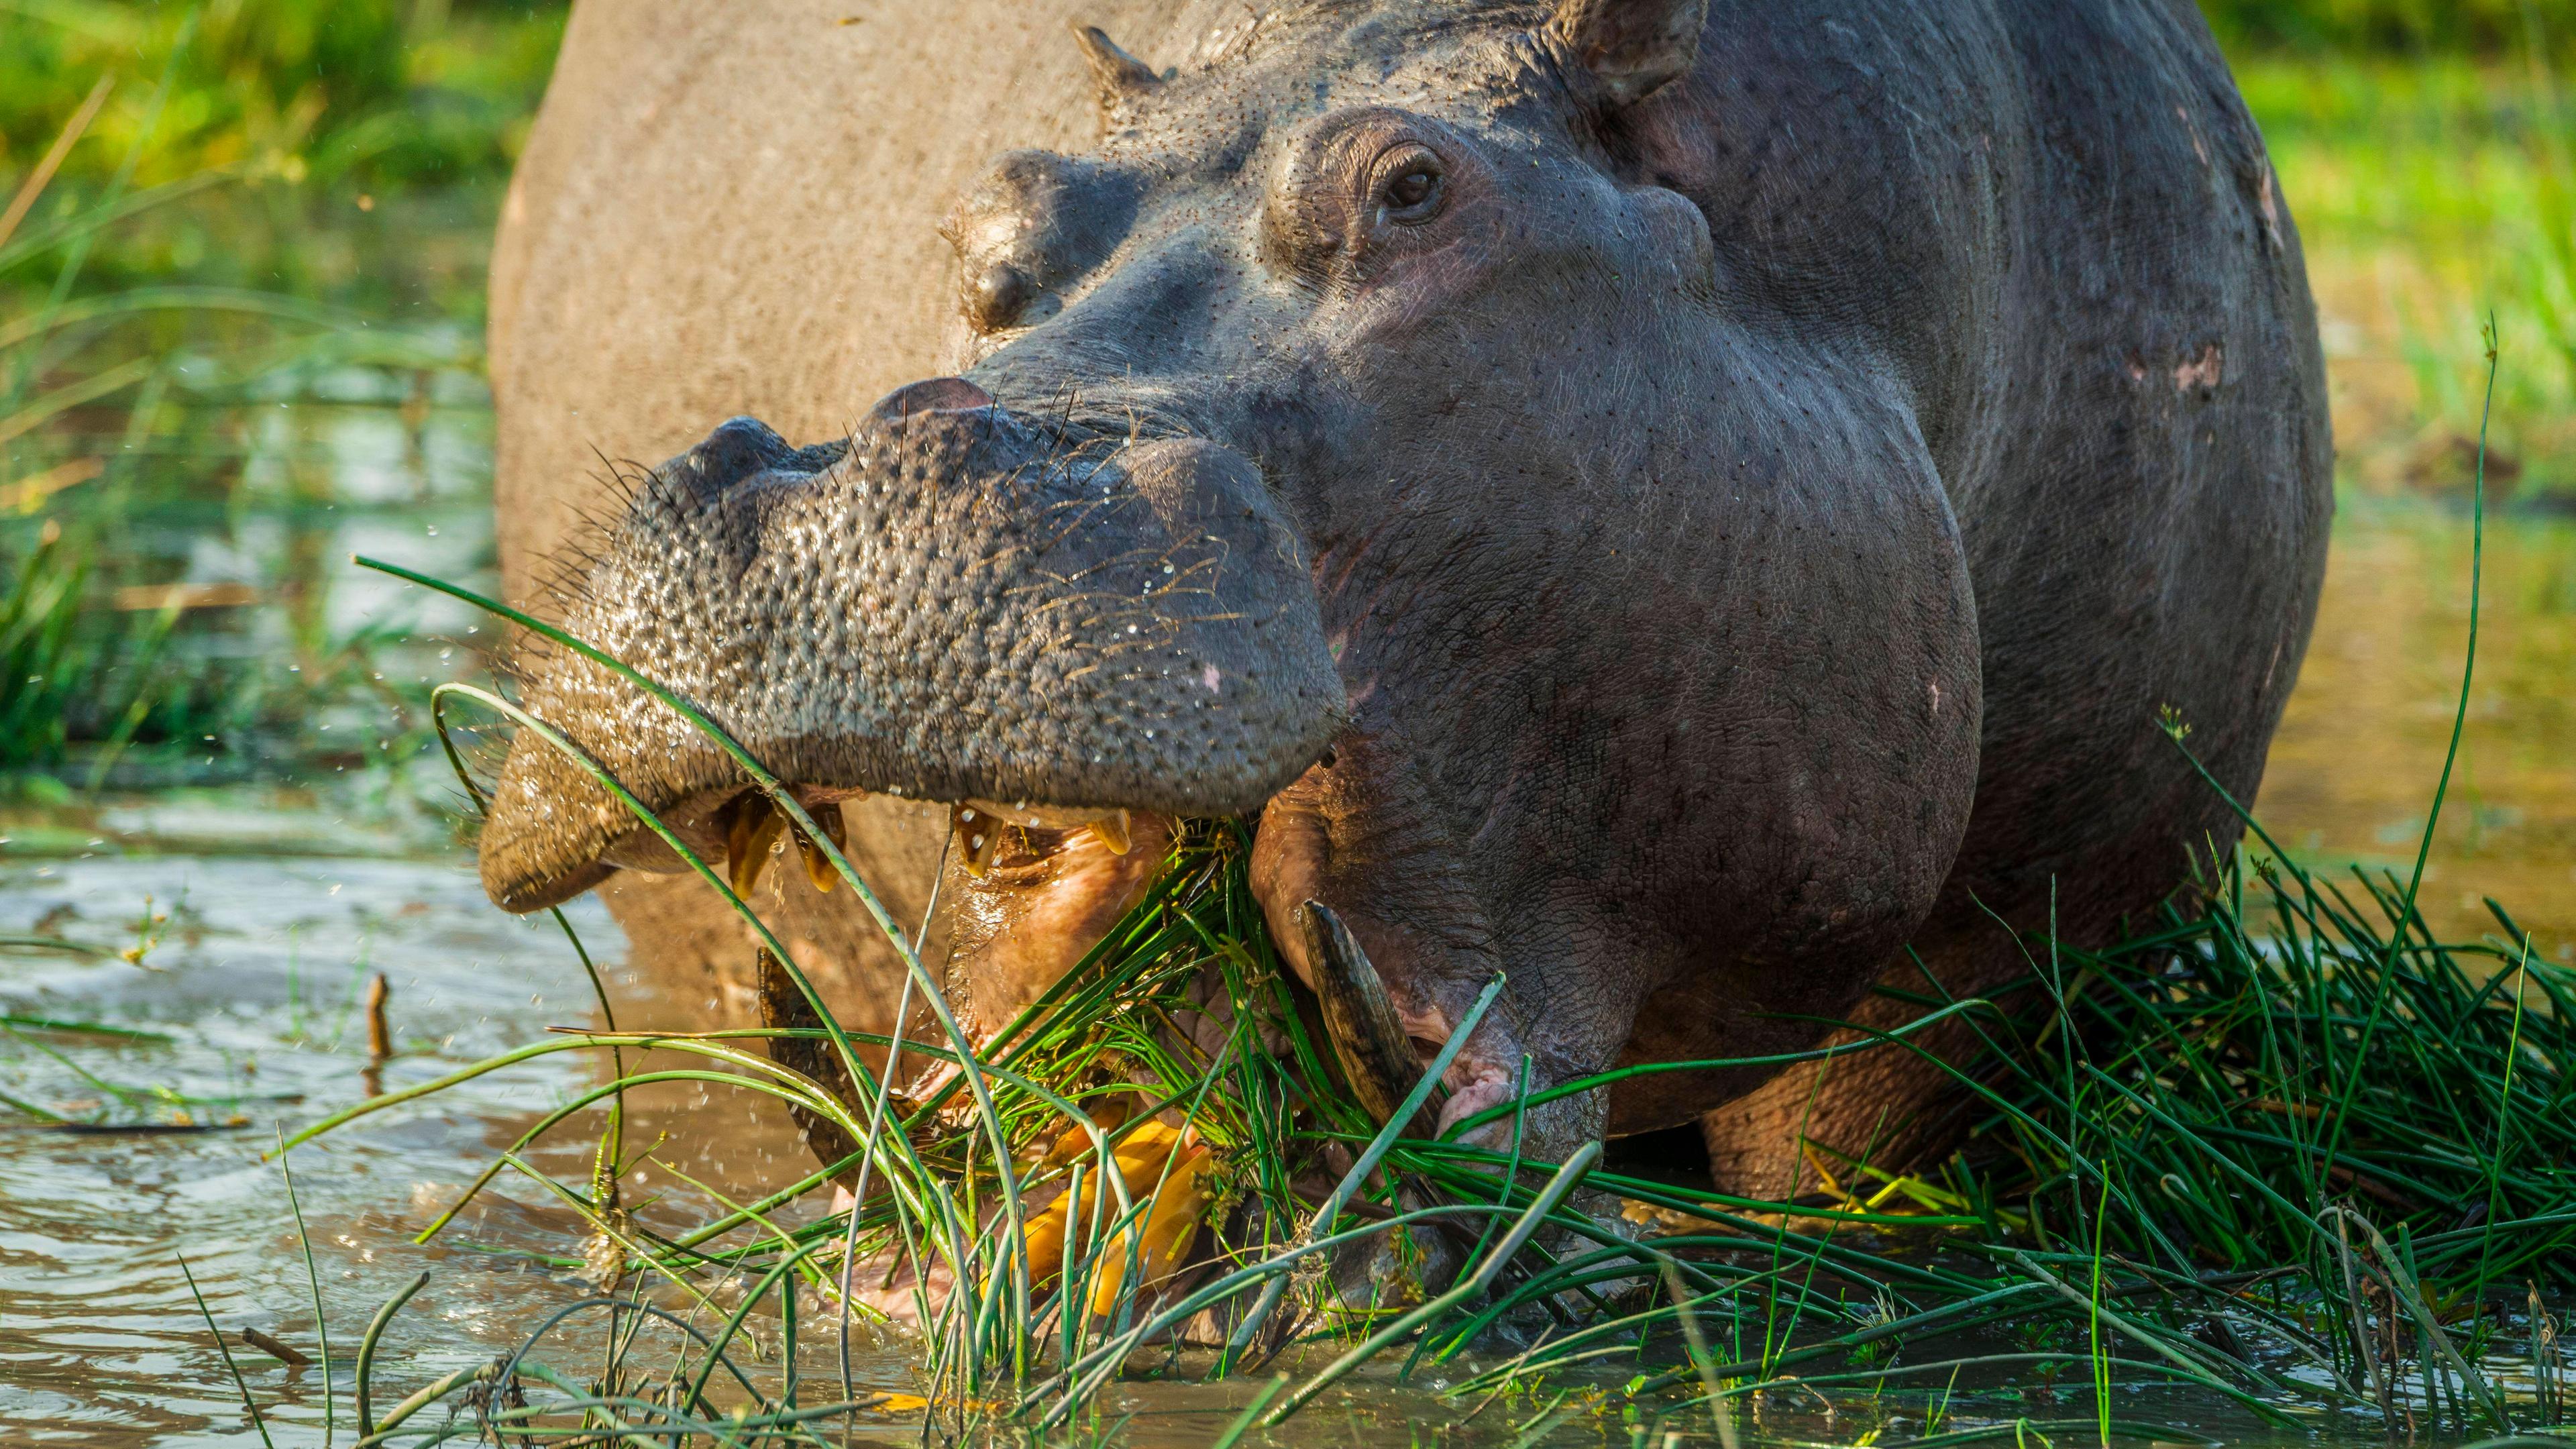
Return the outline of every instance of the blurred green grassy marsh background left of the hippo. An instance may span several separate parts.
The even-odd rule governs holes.
[[[0,0],[0,794],[420,753],[422,619],[343,559],[484,565],[482,266],[562,26]]]

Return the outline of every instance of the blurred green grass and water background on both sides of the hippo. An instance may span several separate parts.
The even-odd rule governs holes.
[[[2264,810],[2411,856],[2494,315],[2488,691],[2442,859],[2576,923],[2576,3],[2205,13],[2306,235],[2342,449]],[[487,632],[345,554],[489,578],[482,258],[562,23],[0,0],[0,848],[222,848],[229,804],[173,802],[242,789],[443,830],[420,699]]]

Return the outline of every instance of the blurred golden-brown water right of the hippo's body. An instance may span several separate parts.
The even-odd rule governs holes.
[[[2298,694],[2257,817],[2318,869],[2403,882],[2460,706],[2470,518],[2409,498],[2347,498]],[[2478,665],[2460,763],[2424,866],[2434,931],[2504,928],[2576,962],[2576,518],[2486,521]]]

